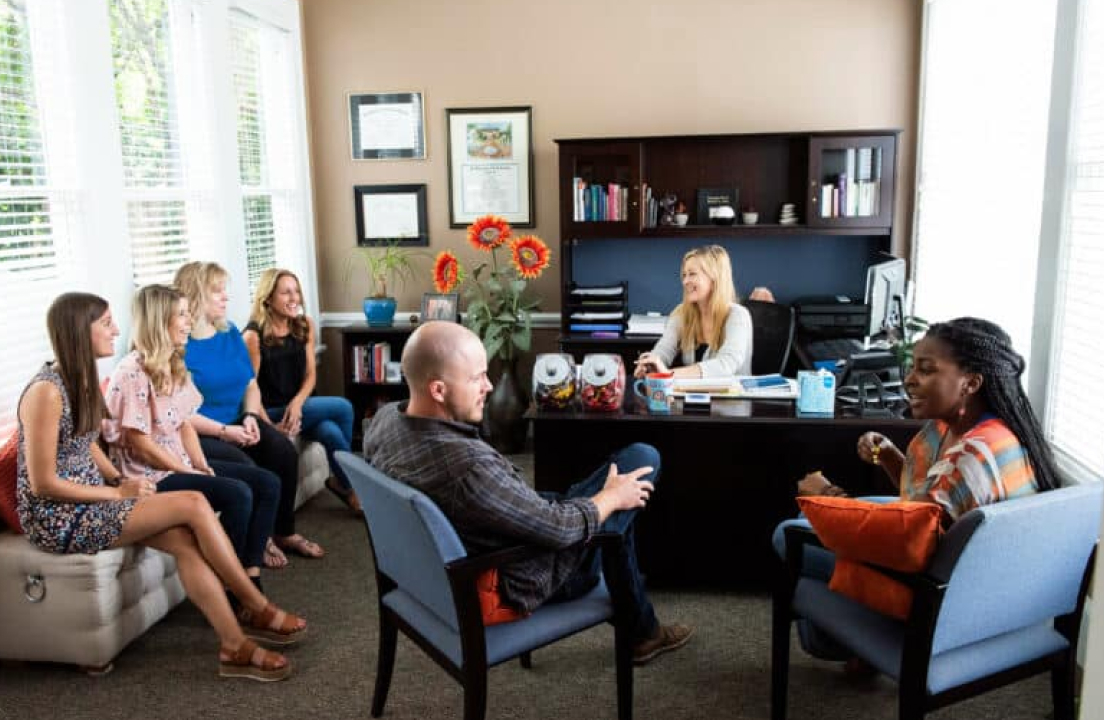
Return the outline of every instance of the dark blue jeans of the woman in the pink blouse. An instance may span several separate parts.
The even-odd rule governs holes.
[[[219,513],[243,568],[259,568],[265,541],[273,533],[279,479],[259,467],[209,460],[216,475],[172,473],[157,484],[158,493],[198,490]]]

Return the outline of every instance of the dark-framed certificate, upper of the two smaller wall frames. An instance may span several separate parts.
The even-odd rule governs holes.
[[[425,160],[422,93],[349,95],[353,160]]]

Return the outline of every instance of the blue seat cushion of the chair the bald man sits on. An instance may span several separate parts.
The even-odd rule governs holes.
[[[383,604],[410,623],[456,667],[460,667],[463,659],[460,636],[443,623],[436,613],[402,589],[384,595]],[[581,629],[606,622],[611,617],[613,617],[613,604],[603,581],[577,600],[566,603],[545,603],[526,620],[488,627],[487,666],[542,647]]]

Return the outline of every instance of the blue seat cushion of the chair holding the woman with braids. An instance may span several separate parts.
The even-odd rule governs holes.
[[[807,578],[797,583],[794,610],[880,673],[900,680],[904,623],[828,590],[826,582]],[[959,646],[933,656],[927,690],[942,692],[1068,646],[1050,622]]]

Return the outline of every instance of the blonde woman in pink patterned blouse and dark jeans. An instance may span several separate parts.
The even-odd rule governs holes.
[[[112,373],[104,438],[128,477],[157,483],[158,493],[198,490],[219,518],[254,584],[261,586],[265,541],[273,532],[279,479],[237,463],[208,463],[190,417],[203,404],[184,368],[192,321],[188,298],[148,285],[131,309],[131,351]]]

